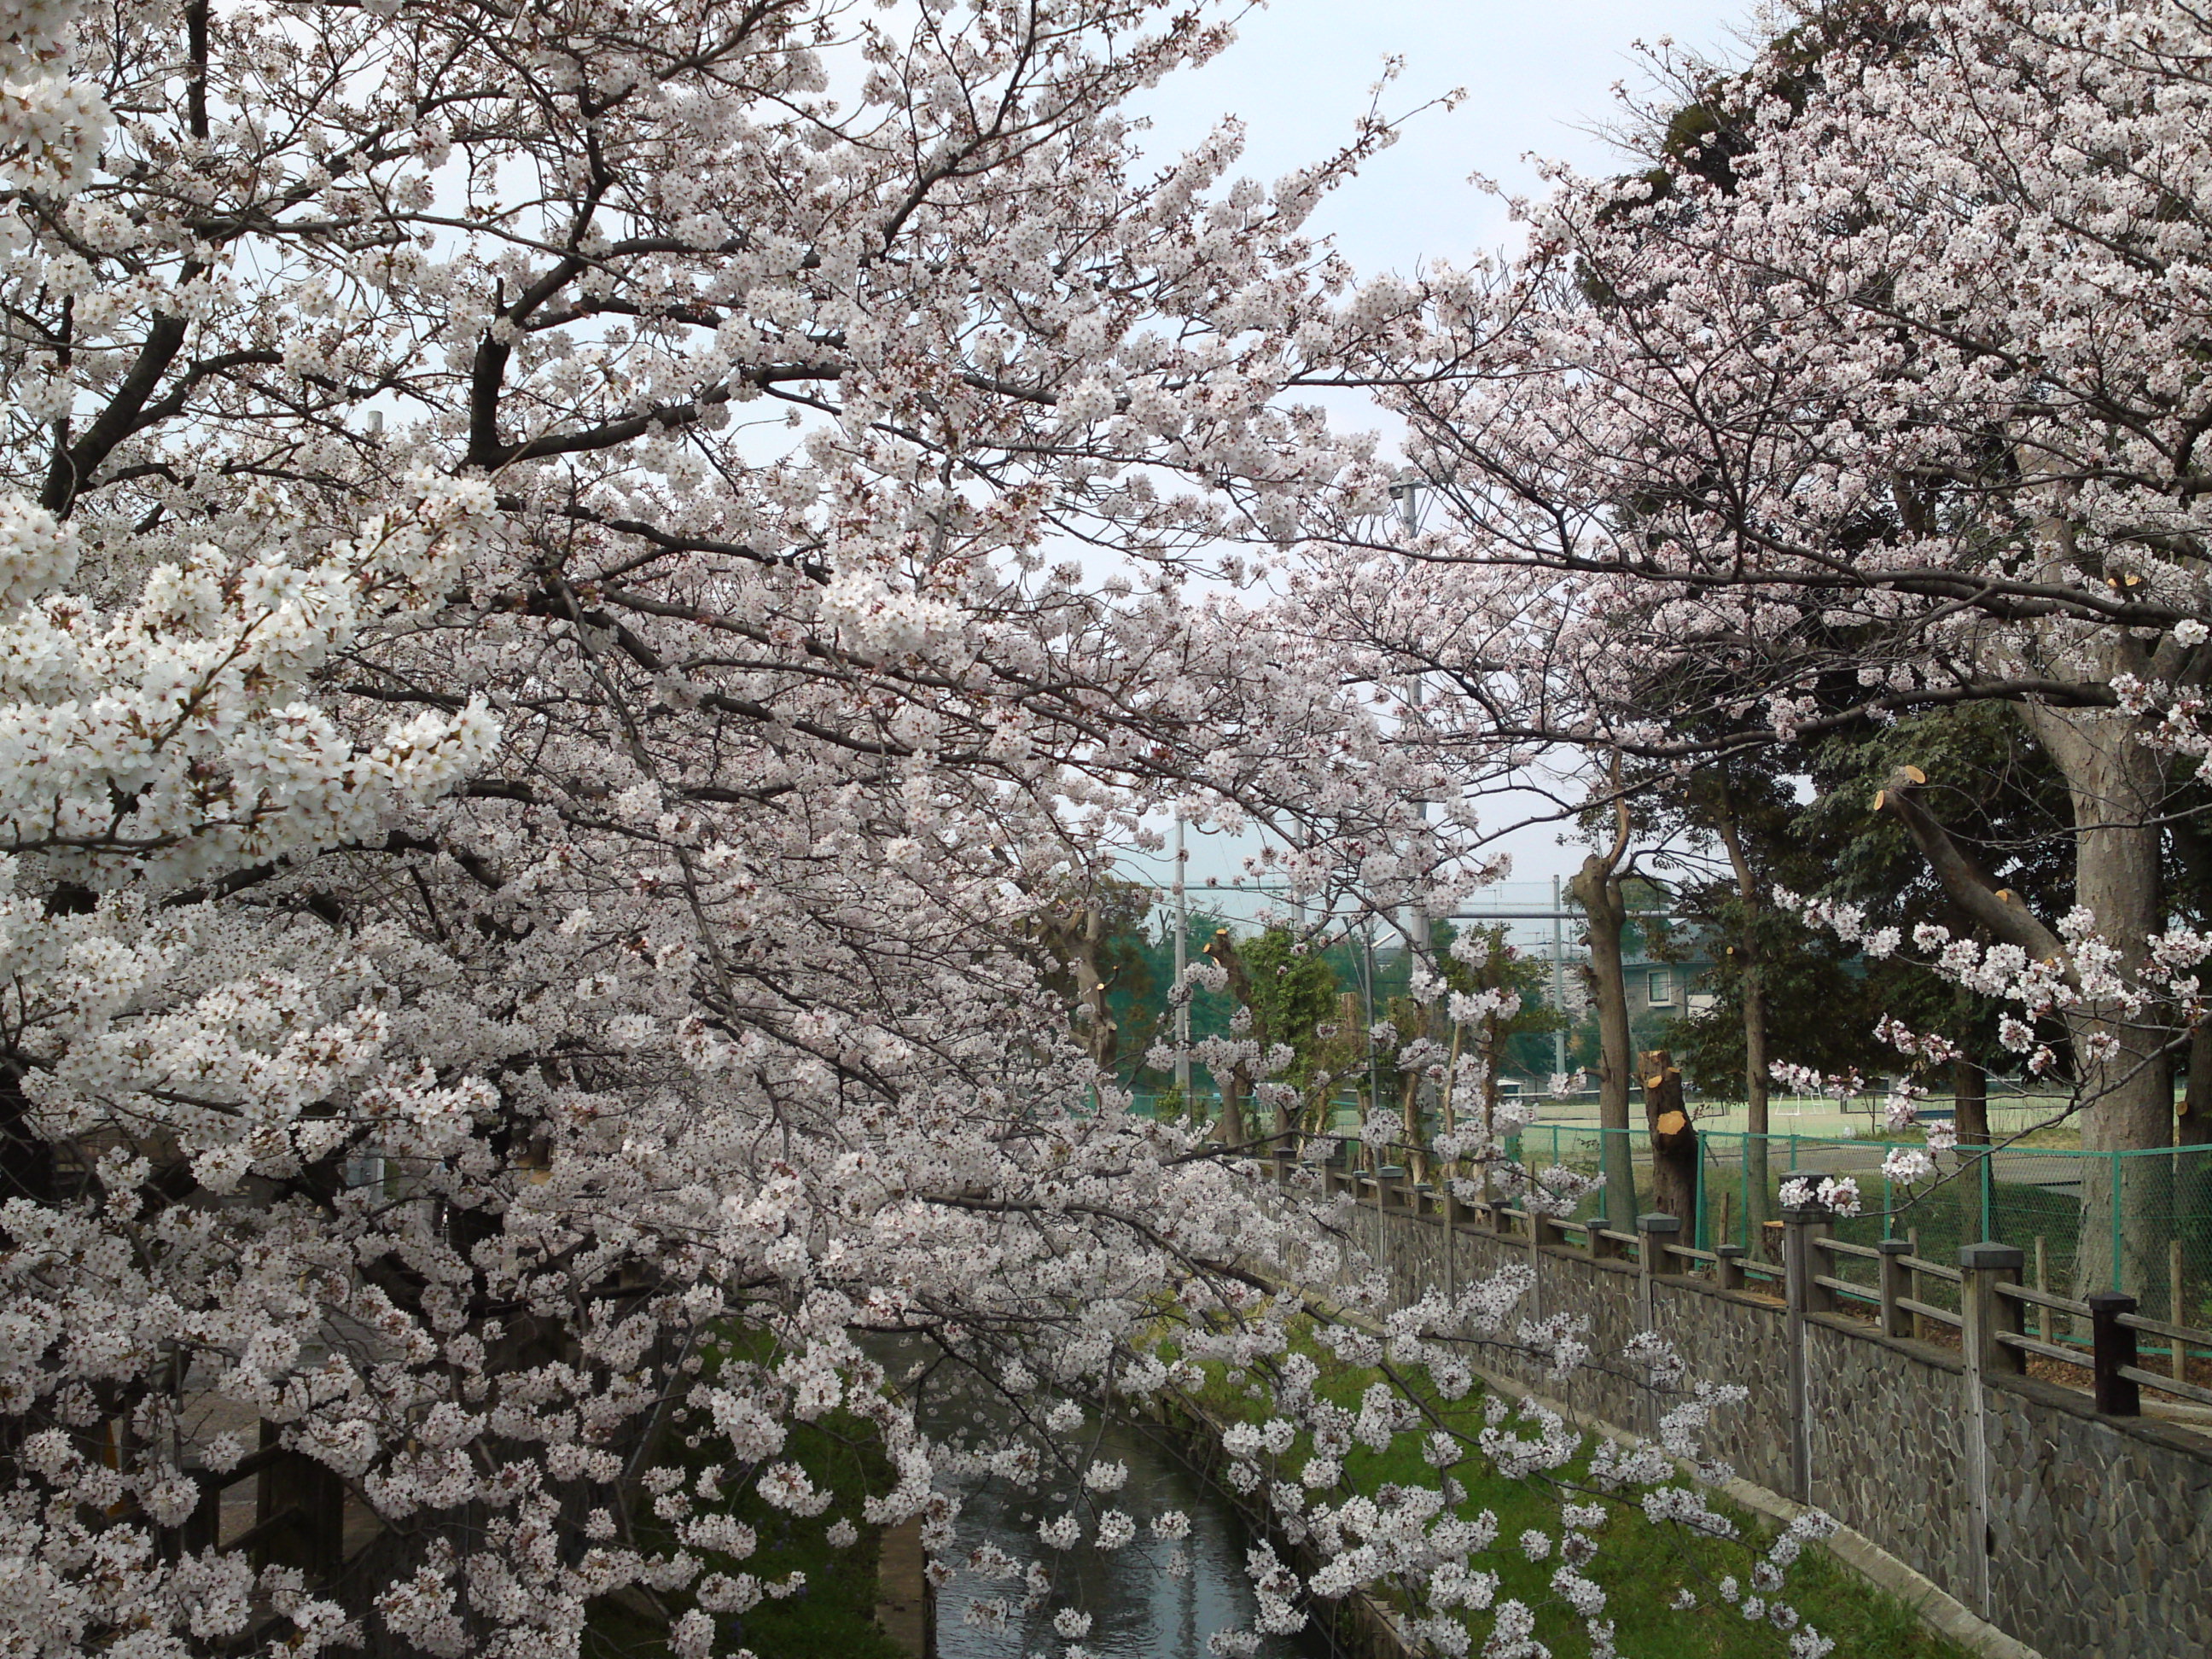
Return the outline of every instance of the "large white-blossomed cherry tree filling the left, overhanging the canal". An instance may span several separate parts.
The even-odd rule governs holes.
[[[1383,500],[1285,394],[1396,314],[1301,230],[1389,124],[1146,173],[1124,100],[1225,29],[1141,0],[0,29],[9,1646],[566,1655],[622,1595],[692,1659],[765,1593],[721,1482],[823,1509],[792,1422],[949,1540],[872,1336],[1015,1402],[1006,1478],[1082,1420],[1031,1389],[1188,1385],[1161,1329],[1279,1356],[1340,1206],[1128,1117],[1024,947],[1170,801],[1449,905],[1433,757],[1237,591]],[[1513,1294],[1398,1340],[1573,1360]],[[234,1548],[246,1473],[301,1498]],[[1484,1548],[1338,1535],[1316,1593]]]

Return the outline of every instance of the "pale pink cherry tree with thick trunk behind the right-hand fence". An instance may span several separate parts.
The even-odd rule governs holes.
[[[1559,177],[1526,259],[1409,288],[1376,372],[1449,511],[1343,538],[1316,584],[1455,575],[1482,622],[1369,639],[1531,745],[1688,768],[2020,703],[2079,911],[1922,838],[2017,958],[2015,1026],[2064,1018],[2097,1148],[2172,1144],[2197,1020],[2159,838],[2205,752],[2203,40],[2159,4],[1969,0],[1783,18],[1732,75],[1663,60],[1699,119],[1655,168]]]

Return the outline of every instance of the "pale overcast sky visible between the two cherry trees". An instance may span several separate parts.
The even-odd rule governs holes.
[[[1464,86],[1455,111],[1413,119],[1314,217],[1314,230],[1332,234],[1356,268],[1411,272],[1422,259],[1464,261],[1515,243],[1504,204],[1469,175],[1535,195],[1531,157],[1617,166],[1599,128],[1617,119],[1613,88],[1644,84],[1637,42],[1670,35],[1732,58],[1750,13],[1750,0],[1274,0],[1243,20],[1228,53],[1161,82],[1137,106],[1152,117],[1150,144],[1161,155],[1188,148],[1223,115],[1243,117],[1237,170],[1274,181],[1349,137],[1387,55],[1405,58],[1387,111]],[[1579,847],[1557,845],[1557,830],[1531,830],[1504,847],[1520,883],[1548,887],[1582,863]],[[1192,880],[1225,878],[1248,852],[1252,843],[1194,841]],[[1520,887],[1513,900],[1540,894]]]

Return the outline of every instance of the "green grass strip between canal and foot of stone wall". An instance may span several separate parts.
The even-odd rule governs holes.
[[[1358,1407],[1360,1394],[1380,1371],[1338,1363],[1325,1349],[1305,1347],[1323,1365],[1316,1391],[1336,1405]],[[1416,1374],[1418,1376],[1418,1374]],[[1230,1385],[1214,1374],[1203,1405],[1219,1420],[1265,1420],[1261,1400],[1248,1387]],[[1482,1425],[1480,1389],[1460,1402],[1440,1402],[1447,1420],[1473,1433]],[[1285,1460],[1303,1467],[1307,1447],[1301,1440]],[[1389,1482],[1433,1486],[1436,1471],[1420,1460],[1411,1436],[1400,1436],[1389,1451],[1356,1447],[1343,1460],[1345,1480],[1360,1493],[1376,1493]],[[1562,1471],[1573,1482],[1582,1467]],[[1553,1590],[1557,1555],[1531,1562],[1515,1544],[1522,1531],[1535,1528],[1559,1540],[1562,1489],[1551,1482],[1506,1480],[1486,1464],[1469,1462],[1453,1469],[1467,1489],[1460,1513],[1467,1517],[1491,1511],[1498,1517],[1498,1544],[1478,1559],[1482,1571],[1500,1577],[1498,1599],[1528,1604],[1537,1615],[1537,1639],[1555,1659],[1588,1659],[1590,1639],[1582,1619]],[[1723,1577],[1750,1582],[1752,1562],[1772,1544],[1774,1528],[1754,1515],[1717,1504],[1736,1522],[1743,1542],[1697,1537],[1679,1526],[1655,1524],[1641,1509],[1617,1500],[1568,1493],[1568,1502],[1604,1502],[1610,1511],[1597,1533],[1599,1553],[1584,1568],[1608,1595],[1606,1617],[1615,1621],[1615,1644],[1632,1659],[1774,1659],[1790,1650],[1790,1639],[1772,1624],[1752,1624],[1741,1606],[1719,1595]],[[1670,1606],[1679,1590],[1697,1595],[1699,1606]],[[1834,1639],[1836,1659],[1966,1659],[1966,1650],[1927,1630],[1900,1599],[1876,1590],[1845,1568],[1827,1551],[1812,1546],[1790,1571],[1785,1599],[1801,1619]],[[1486,1621],[1475,1621],[1478,1639]]]

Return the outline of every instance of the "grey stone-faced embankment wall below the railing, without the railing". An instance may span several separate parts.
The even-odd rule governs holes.
[[[1705,1442],[1736,1475],[1825,1509],[2046,1659],[2212,1655],[2212,1433],[2106,1418],[2031,1376],[1969,1376],[1955,1349],[1792,1314],[1778,1294],[1646,1276],[1473,1221],[1447,1230],[1378,1208],[1371,1183],[1356,1230],[1398,1301],[1520,1261],[1537,1272],[1535,1310],[1588,1318],[1599,1356],[1650,1325],[1694,1376],[1750,1389]],[[1648,1396],[1617,1371],[1555,1378],[1509,1354],[1484,1367],[1590,1420],[1652,1429]]]

